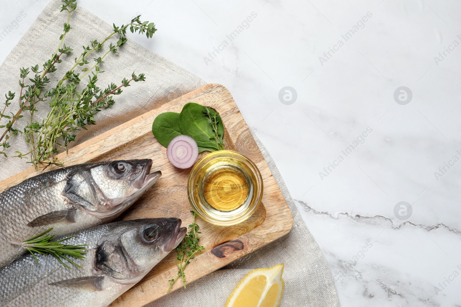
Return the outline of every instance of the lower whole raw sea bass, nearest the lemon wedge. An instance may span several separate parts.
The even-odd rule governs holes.
[[[0,307],[106,307],[182,241],[181,220],[113,222],[74,232],[66,244],[89,244],[81,268],[52,256],[24,255],[0,268]],[[64,237],[63,237],[64,238]]]

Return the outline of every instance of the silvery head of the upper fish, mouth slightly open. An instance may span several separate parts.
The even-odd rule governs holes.
[[[71,175],[63,194],[87,213],[111,220],[160,178],[160,171],[149,174],[151,166],[151,159],[89,164]]]

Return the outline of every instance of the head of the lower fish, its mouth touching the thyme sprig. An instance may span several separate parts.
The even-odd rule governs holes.
[[[95,271],[119,284],[135,284],[183,240],[177,218],[118,222],[95,253]]]

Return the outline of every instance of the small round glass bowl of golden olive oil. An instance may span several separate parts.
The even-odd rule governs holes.
[[[190,172],[189,201],[202,219],[220,226],[240,223],[258,208],[263,192],[261,174],[236,151],[214,151]]]

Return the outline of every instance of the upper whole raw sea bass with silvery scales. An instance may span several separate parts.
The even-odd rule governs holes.
[[[24,254],[22,242],[53,227],[57,236],[106,223],[157,179],[151,159],[73,165],[24,180],[0,194],[0,267]]]

